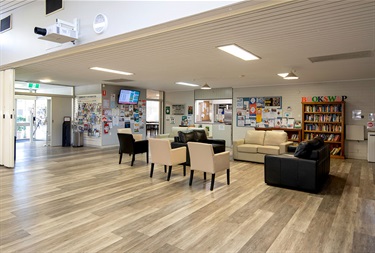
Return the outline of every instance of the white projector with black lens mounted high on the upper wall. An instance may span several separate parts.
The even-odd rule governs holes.
[[[78,39],[78,21],[68,23],[61,19],[56,19],[56,24],[47,28],[35,27],[34,33],[41,35],[38,39],[48,40],[56,43],[74,42]]]

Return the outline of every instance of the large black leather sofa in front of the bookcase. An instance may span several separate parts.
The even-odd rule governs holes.
[[[264,179],[269,185],[318,192],[328,178],[330,170],[329,145],[312,150],[306,158],[293,153],[266,155]]]

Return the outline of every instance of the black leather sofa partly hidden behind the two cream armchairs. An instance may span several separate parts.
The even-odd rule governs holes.
[[[172,148],[186,147],[186,165],[190,166],[190,154],[187,143],[189,141],[209,143],[214,149],[214,153],[221,153],[225,151],[225,140],[208,139],[205,130],[193,130],[188,132],[178,132],[178,137],[175,137],[174,142],[171,143]]]

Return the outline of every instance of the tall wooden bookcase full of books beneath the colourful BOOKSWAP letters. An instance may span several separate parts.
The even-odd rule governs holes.
[[[321,136],[332,158],[345,158],[345,102],[302,102],[302,139]]]

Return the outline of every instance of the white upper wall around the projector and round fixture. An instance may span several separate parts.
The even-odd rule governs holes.
[[[12,29],[0,34],[1,65],[47,54],[65,48],[129,33],[146,27],[162,24],[179,18],[219,8],[238,1],[64,1],[64,8],[46,16],[45,1],[35,1],[0,18],[12,14]],[[96,34],[92,28],[94,17],[105,14],[108,28]],[[57,44],[37,39],[34,27],[45,28],[56,19],[80,22],[79,40]]]

